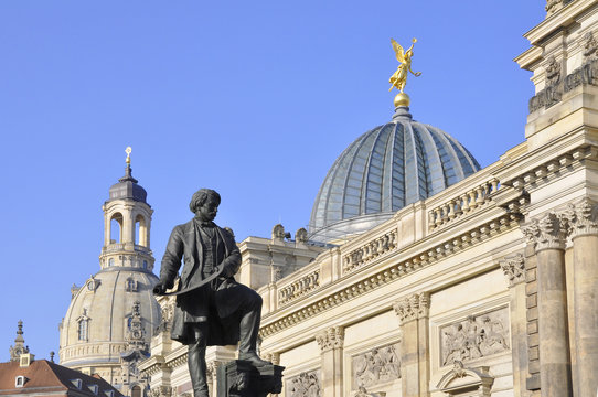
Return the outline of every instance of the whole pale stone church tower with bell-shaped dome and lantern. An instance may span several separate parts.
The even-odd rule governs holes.
[[[127,148],[125,175],[110,187],[102,207],[99,271],[83,287],[73,286],[60,324],[60,364],[98,374],[132,397],[147,391],[137,364],[149,356],[149,342],[160,323],[160,307],[152,294],[158,282],[150,248],[153,211],[146,198],[146,190],[132,176]]]

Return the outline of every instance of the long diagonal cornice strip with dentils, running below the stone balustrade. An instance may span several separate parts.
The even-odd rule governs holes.
[[[427,250],[420,251],[405,260],[394,262],[366,279],[355,280],[355,282],[349,285],[341,291],[323,296],[321,299],[318,299],[316,302],[306,307],[298,307],[298,309],[293,310],[291,313],[264,325],[259,330],[259,334],[261,337],[267,337],[286,330],[289,326],[318,315],[351,299],[357,298],[426,266],[433,265],[452,254],[462,251],[478,243],[485,242],[488,238],[498,234],[520,226],[520,219],[521,215],[516,213],[501,215],[495,219],[479,225],[461,235],[453,236],[450,239],[429,247]],[[276,315],[276,312],[266,316],[265,321],[263,320],[263,323],[265,323],[270,315]]]

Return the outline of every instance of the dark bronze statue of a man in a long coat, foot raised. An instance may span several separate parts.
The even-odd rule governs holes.
[[[174,227],[162,258],[157,294],[171,289],[184,261],[171,337],[189,345],[189,374],[194,397],[209,397],[205,347],[239,342],[238,358],[254,366],[270,364],[257,355],[261,297],[235,281],[241,253],[235,238],[214,221],[221,202],[213,190],[193,194],[190,222]]]

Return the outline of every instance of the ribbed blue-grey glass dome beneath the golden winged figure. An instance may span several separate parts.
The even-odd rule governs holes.
[[[365,232],[478,170],[455,138],[397,107],[389,122],[362,135],[332,164],[313,204],[310,238]]]

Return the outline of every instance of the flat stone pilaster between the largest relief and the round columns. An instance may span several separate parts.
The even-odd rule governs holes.
[[[511,348],[513,351],[513,391],[523,396],[527,375],[527,316],[525,293],[525,259],[522,254],[500,261],[509,279],[511,294]]]

